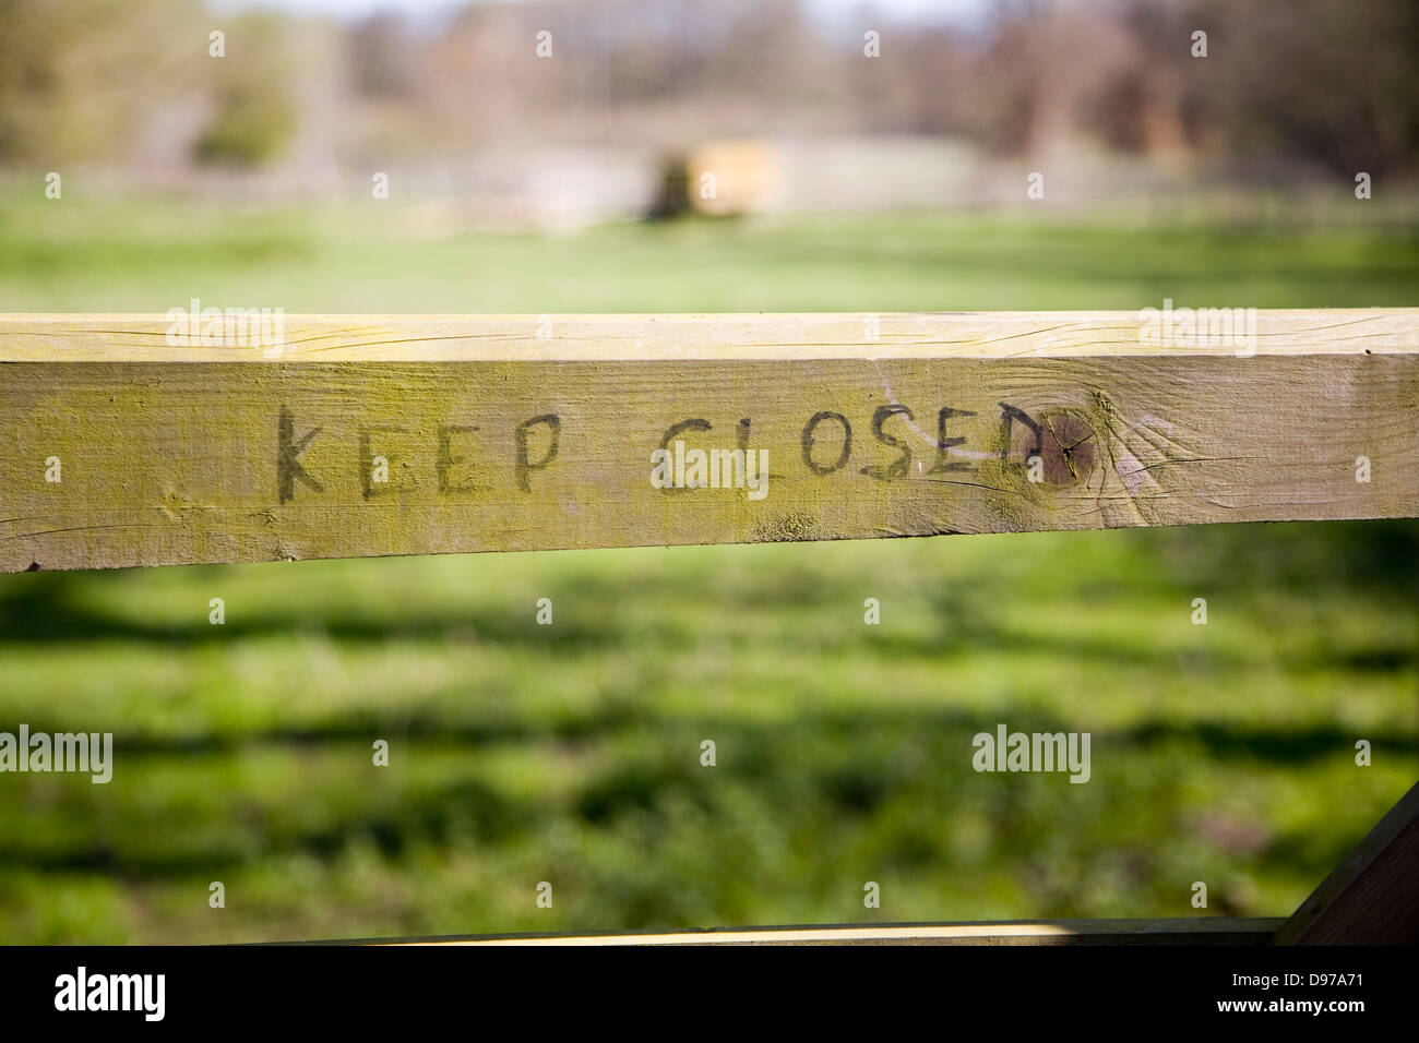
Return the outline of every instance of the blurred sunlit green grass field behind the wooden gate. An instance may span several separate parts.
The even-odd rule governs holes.
[[[1419,304],[1379,223],[539,237],[81,194],[0,197],[0,311]],[[116,766],[0,775],[0,941],[1284,915],[1419,776],[1416,553],[1345,522],[3,576],[0,729],[112,731]],[[1002,722],[1091,732],[1093,779],[975,773]]]

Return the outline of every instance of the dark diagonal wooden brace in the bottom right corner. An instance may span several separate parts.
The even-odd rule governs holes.
[[[1419,785],[1276,932],[1277,945],[1419,945]]]

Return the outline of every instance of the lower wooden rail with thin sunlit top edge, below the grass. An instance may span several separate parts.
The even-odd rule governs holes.
[[[717,928],[664,934],[424,938],[409,945],[1266,945],[1283,920],[1042,920]]]

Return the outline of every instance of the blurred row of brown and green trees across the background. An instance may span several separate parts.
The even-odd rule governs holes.
[[[1269,177],[1419,175],[1416,0],[999,0],[931,24],[807,10],[525,0],[315,31],[289,14],[217,18],[203,0],[0,0],[0,162],[429,163],[949,133],[1016,156],[1093,143]],[[223,60],[207,57],[217,27]],[[1191,55],[1199,28],[1206,58]]]

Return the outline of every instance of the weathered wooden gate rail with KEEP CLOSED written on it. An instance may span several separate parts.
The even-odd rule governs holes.
[[[0,318],[0,569],[1419,514],[1415,309],[173,325]]]

